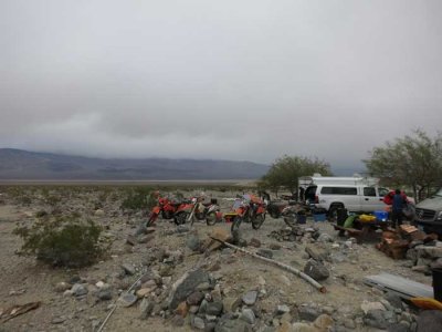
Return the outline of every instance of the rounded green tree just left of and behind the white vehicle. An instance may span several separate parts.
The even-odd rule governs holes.
[[[284,155],[272,164],[269,172],[261,178],[259,187],[269,188],[276,196],[278,189],[284,187],[291,193],[295,193],[297,197],[299,177],[313,175],[314,173],[330,175],[330,166],[328,163],[317,158]]]

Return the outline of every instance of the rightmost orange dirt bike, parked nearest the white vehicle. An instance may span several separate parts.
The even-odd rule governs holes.
[[[265,205],[253,195],[243,195],[243,197],[233,205],[235,216],[231,226],[234,232],[244,222],[251,222],[253,229],[259,229],[265,220]]]

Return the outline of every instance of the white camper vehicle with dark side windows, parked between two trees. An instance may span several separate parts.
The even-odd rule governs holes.
[[[372,177],[303,177],[307,184],[305,199],[317,208],[324,208],[334,217],[338,208],[348,211],[372,212],[383,210],[383,196],[389,190],[378,187],[379,179]]]

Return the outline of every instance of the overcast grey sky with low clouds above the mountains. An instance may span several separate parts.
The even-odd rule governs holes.
[[[440,0],[0,0],[0,147],[271,164],[442,125]]]

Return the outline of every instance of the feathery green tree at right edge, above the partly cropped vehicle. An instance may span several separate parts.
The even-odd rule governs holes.
[[[378,176],[388,186],[408,186],[415,201],[429,196],[442,185],[442,135],[431,138],[421,129],[413,135],[387,142],[375,147],[371,156],[362,160],[369,173]]]

